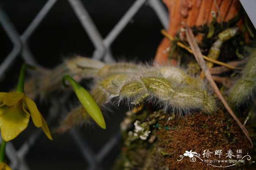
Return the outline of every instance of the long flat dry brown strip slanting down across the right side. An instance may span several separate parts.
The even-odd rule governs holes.
[[[219,91],[217,85],[215,84],[215,82],[214,82],[214,80],[213,80],[213,78],[211,76],[210,70],[208,69],[208,67],[206,65],[206,62],[203,59],[202,52],[200,51],[200,48],[199,48],[198,44],[196,43],[195,36],[193,35],[192,30],[187,25],[185,25],[185,27],[186,27],[186,35],[187,35],[188,43],[191,46],[192,51],[194,52],[194,56],[196,58],[197,63],[199,64],[201,69],[204,71],[204,75],[206,76],[206,79],[210,83],[210,86],[214,90],[215,94],[218,96],[218,98],[221,100],[223,105],[226,107],[226,109],[229,112],[229,114],[236,120],[237,124],[240,126],[240,128],[244,132],[245,136],[250,141],[251,147],[253,147],[252,139],[249,137],[248,131],[242,125],[242,123],[237,118],[237,116],[234,114],[232,109],[229,107],[229,105],[227,104],[226,100],[221,95],[221,92]]]

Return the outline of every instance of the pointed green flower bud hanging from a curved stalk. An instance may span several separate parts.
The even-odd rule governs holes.
[[[95,120],[95,122],[103,129],[106,129],[105,120],[103,118],[101,109],[98,104],[95,102],[93,97],[90,95],[88,91],[86,91],[78,82],[76,82],[70,76],[63,76],[62,78],[64,86],[65,80],[68,80],[73,90],[78,97],[79,101],[82,103],[84,109],[88,112],[88,114]]]

